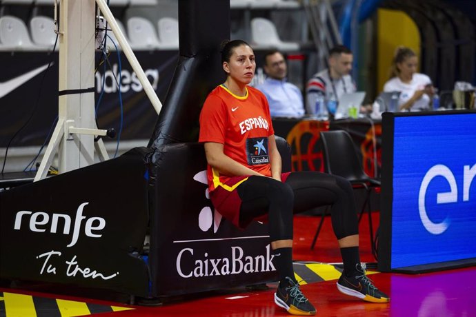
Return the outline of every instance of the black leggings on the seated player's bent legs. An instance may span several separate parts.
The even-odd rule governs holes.
[[[359,233],[353,189],[339,176],[319,172],[292,172],[285,183],[250,176],[237,187],[241,198],[240,222],[268,213],[271,241],[292,239],[292,212],[331,205],[337,239]]]

